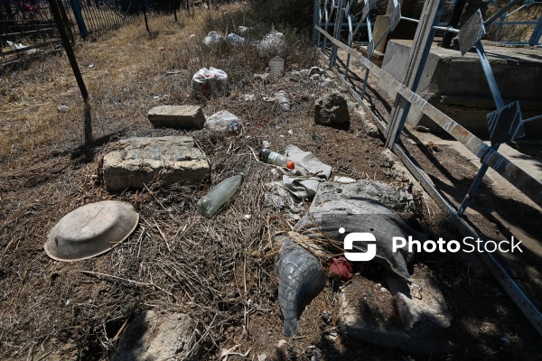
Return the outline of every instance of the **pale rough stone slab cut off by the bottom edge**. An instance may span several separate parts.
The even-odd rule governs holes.
[[[128,324],[113,360],[197,361],[200,358],[196,322],[190,316],[145,310]]]

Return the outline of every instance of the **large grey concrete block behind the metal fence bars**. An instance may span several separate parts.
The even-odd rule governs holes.
[[[389,41],[382,69],[403,81],[411,47],[409,40]],[[524,118],[540,114],[542,87],[532,81],[542,77],[542,62],[537,60],[537,51],[532,47],[509,48],[491,44],[484,44],[484,49],[505,104],[519,100]],[[378,88],[385,90],[391,99],[396,97],[397,92],[384,79],[378,80]],[[434,44],[417,93],[472,133],[488,134],[487,114],[495,110],[495,104],[476,53],[468,52],[462,57],[459,51],[442,49]],[[414,106],[407,121],[415,126],[443,131]],[[537,136],[541,131],[542,122],[526,126],[529,136]]]

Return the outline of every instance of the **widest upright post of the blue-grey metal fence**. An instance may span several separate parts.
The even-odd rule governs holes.
[[[403,84],[416,92],[420,78],[425,68],[425,62],[431,50],[431,44],[435,37],[435,29],[433,26],[440,22],[440,17],[443,12],[445,0],[427,0],[422,11],[423,18],[416,29],[416,35],[412,42],[410,56],[406,64],[406,75]],[[406,123],[406,116],[410,110],[410,103],[397,94],[394,106],[389,116],[388,134],[386,137],[386,147],[393,148],[397,143],[401,132]]]

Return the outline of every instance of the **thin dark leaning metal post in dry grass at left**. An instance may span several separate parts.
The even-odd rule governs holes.
[[[73,49],[71,48],[70,38],[68,36],[68,32],[66,31],[66,26],[62,22],[62,15],[61,15],[61,10],[60,10],[61,5],[57,2],[57,0],[48,0],[48,1],[49,1],[49,6],[51,7],[52,16],[54,18],[55,23],[57,24],[57,28],[59,29],[62,44],[64,45],[64,49],[66,50],[66,55],[68,55],[68,60],[70,60],[70,65],[71,65],[71,69],[73,70],[73,75],[75,76],[75,79],[77,80],[77,84],[79,86],[81,96],[83,97],[83,100],[85,101],[84,136],[85,136],[85,144],[89,145],[90,143],[92,143],[92,119],[90,116],[89,91],[87,90],[87,87],[85,86],[85,82],[83,81],[83,77],[81,76],[81,72],[77,64],[77,59],[75,58],[75,53],[73,52]]]

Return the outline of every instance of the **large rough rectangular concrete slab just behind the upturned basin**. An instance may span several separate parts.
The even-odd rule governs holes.
[[[209,162],[190,136],[130,138],[104,156],[103,174],[109,191],[142,190],[145,185],[198,185]]]

